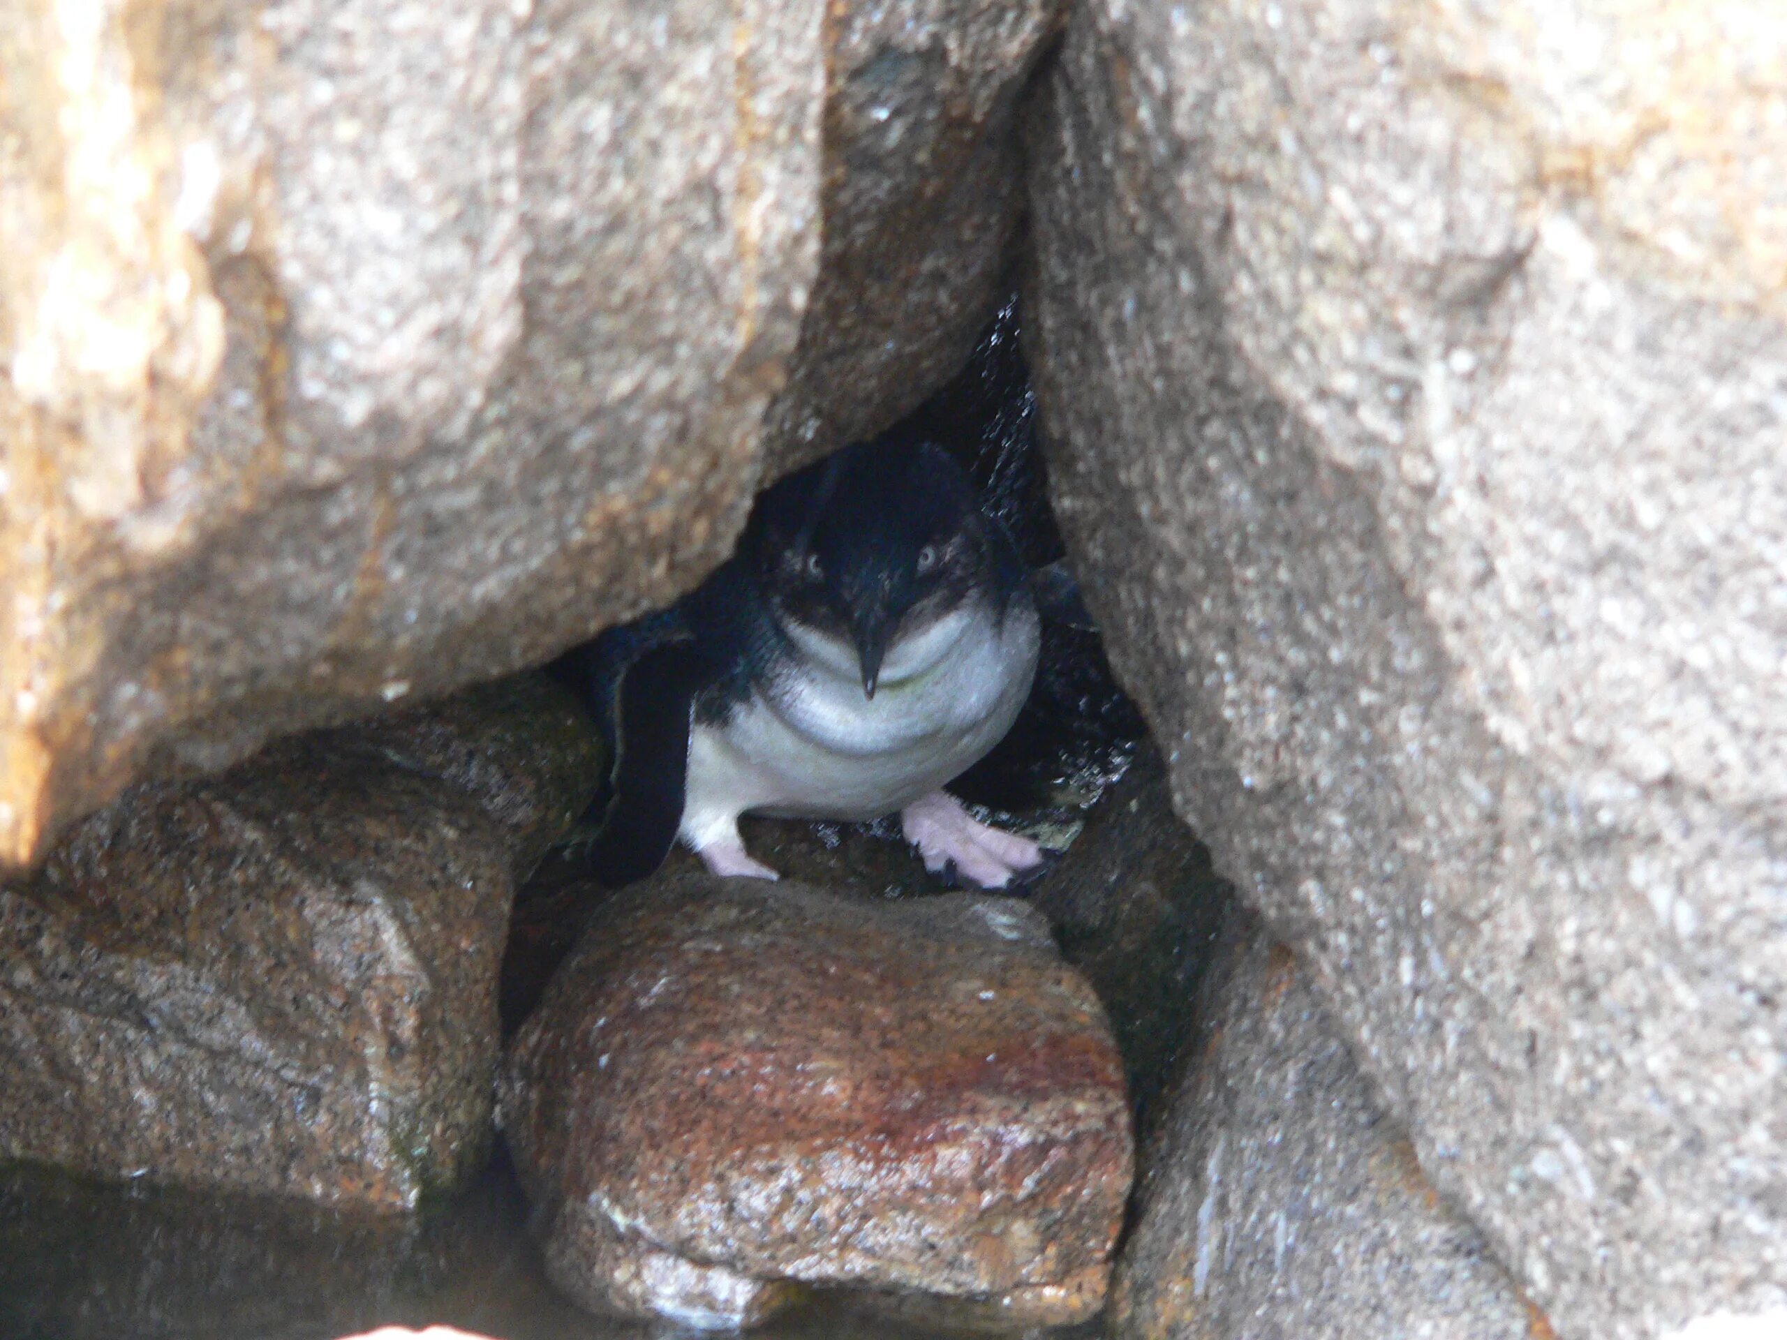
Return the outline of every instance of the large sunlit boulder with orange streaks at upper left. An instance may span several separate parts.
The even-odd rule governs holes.
[[[965,356],[1056,13],[11,5],[0,863],[693,584]]]

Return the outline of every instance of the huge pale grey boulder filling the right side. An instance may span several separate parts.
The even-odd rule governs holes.
[[[1090,0],[1033,127],[1112,661],[1565,1336],[1787,1299],[1783,43],[1741,0]]]

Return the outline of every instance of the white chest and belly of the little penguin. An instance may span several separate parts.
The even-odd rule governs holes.
[[[974,604],[888,649],[863,691],[854,649],[790,629],[795,656],[718,725],[690,733],[683,836],[701,849],[747,811],[879,818],[960,775],[1011,727],[1036,670],[1035,606]]]

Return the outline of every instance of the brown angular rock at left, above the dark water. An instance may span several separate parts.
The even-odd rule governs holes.
[[[0,1158],[375,1208],[466,1172],[516,868],[602,761],[543,681],[461,706],[139,786],[0,886]]]

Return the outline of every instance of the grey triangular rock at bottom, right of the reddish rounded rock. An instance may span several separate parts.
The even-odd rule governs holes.
[[[1428,1185],[1290,951],[1246,913],[1221,940],[1194,1063],[1144,1160],[1115,1333],[1548,1336]]]

